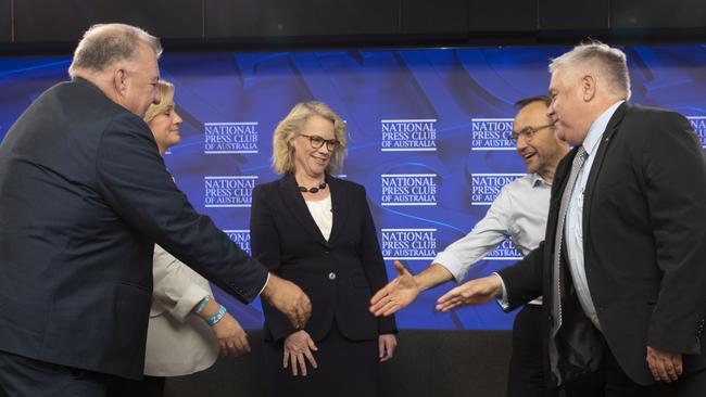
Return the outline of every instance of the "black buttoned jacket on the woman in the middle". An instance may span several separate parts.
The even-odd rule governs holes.
[[[394,318],[375,318],[371,294],[388,282],[365,188],[327,177],[333,225],[328,241],[312,218],[291,175],[257,185],[250,218],[253,255],[270,271],[294,282],[312,300],[306,332],[319,341],[336,319],[351,340],[396,332]],[[263,304],[265,338],[277,341],[295,330]]]

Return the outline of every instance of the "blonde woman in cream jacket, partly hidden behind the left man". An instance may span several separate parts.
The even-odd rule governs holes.
[[[174,86],[157,85],[161,102],[144,116],[161,155],[179,143],[181,117]],[[165,376],[187,375],[213,366],[223,355],[250,351],[247,335],[214,298],[209,281],[159,245],[154,247],[154,286],[144,357],[144,379],[111,389],[110,396],[163,396]]]

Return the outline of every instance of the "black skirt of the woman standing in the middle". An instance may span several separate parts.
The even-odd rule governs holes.
[[[292,375],[291,363],[282,368],[283,340],[265,342],[265,382],[272,397],[376,397],[378,396],[378,341],[351,341],[336,324],[315,342],[318,369],[306,361],[306,376]]]

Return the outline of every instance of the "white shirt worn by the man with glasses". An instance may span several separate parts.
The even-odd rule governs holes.
[[[456,282],[468,269],[506,238],[529,254],[544,240],[552,185],[538,174],[528,174],[503,187],[488,213],[466,236],[437,254],[433,262],[446,268]],[[541,297],[531,304],[542,304]]]

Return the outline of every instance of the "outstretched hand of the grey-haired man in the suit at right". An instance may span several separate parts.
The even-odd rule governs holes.
[[[468,281],[449,291],[437,300],[437,310],[449,311],[461,306],[482,305],[503,294],[500,277],[491,274]]]

